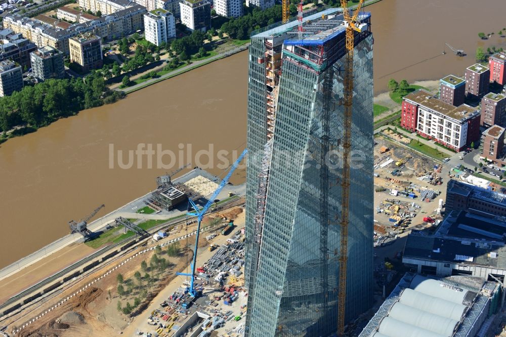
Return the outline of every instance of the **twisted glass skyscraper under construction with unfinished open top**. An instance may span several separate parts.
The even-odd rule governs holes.
[[[373,266],[372,45],[358,15],[351,141],[344,139],[346,27],[328,9],[255,32],[249,47],[246,335],[337,330],[341,218],[348,212],[346,320],[369,308]],[[343,145],[351,143],[349,206]],[[344,245],[343,245],[344,246]],[[344,270],[344,269],[343,269]]]

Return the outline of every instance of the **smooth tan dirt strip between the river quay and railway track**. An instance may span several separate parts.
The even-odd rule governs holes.
[[[86,244],[72,243],[29,267],[0,281],[0,303],[16,293],[92,254]]]

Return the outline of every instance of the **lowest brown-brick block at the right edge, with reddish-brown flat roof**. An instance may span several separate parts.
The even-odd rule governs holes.
[[[499,125],[492,125],[481,134],[480,159],[487,159],[499,167],[506,165],[504,131]]]

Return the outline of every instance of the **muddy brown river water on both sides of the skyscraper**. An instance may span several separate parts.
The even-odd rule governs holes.
[[[506,26],[503,0],[383,0],[366,8],[372,12],[374,33],[374,91],[386,90],[394,77],[408,81],[456,75],[474,63],[478,46],[503,46],[497,32]],[[477,15],[482,11],[486,15]],[[495,32],[480,40],[478,32]],[[506,33],[506,32],[505,32]],[[451,54],[444,43],[469,56]],[[442,56],[445,49],[448,54]],[[239,152],[245,146],[247,52],[213,62],[157,83],[112,105],[85,110],[47,128],[9,140],[0,146],[0,268],[68,233],[67,222],[78,220],[104,203],[105,215],[155,188],[155,177],[187,162],[179,160],[180,144],[193,157],[213,144],[213,153]],[[138,144],[172,150],[175,167],[139,165],[128,150]],[[123,160],[110,147],[123,150]],[[183,152],[184,153],[184,152]],[[206,163],[205,155],[202,163]],[[215,157],[211,171],[223,170]],[[169,166],[169,156],[162,163]],[[231,160],[230,160],[231,162]],[[238,170],[233,183],[244,181]]]

